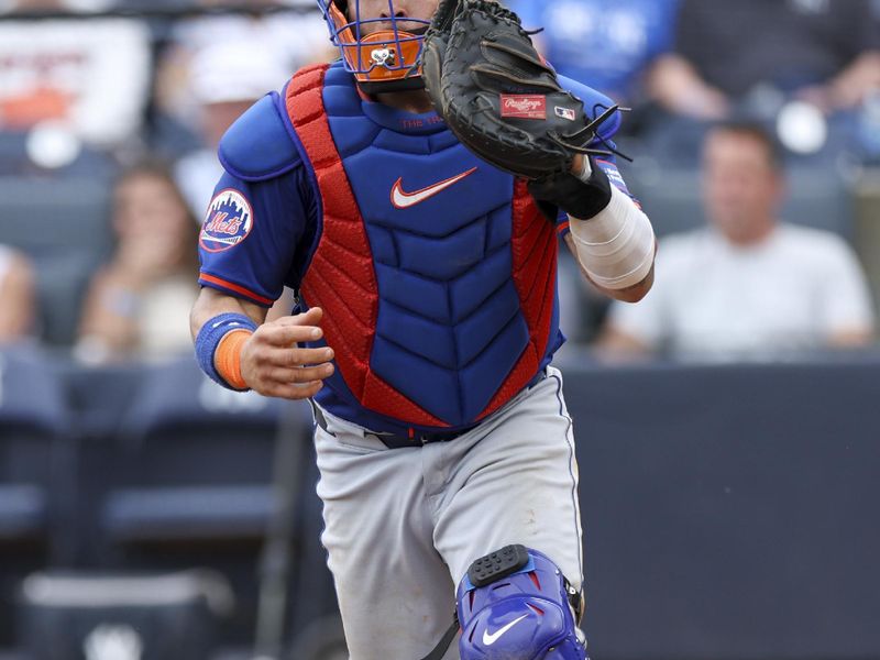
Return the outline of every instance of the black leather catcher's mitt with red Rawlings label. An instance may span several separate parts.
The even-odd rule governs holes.
[[[608,155],[583,102],[559,85],[519,18],[492,0],[442,0],[428,30],[422,77],[459,141],[496,167],[539,179],[575,154]],[[600,148],[596,148],[596,147]]]

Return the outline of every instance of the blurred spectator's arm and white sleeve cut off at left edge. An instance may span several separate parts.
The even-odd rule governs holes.
[[[33,330],[35,316],[34,273],[18,252],[0,245],[0,343],[23,339]]]

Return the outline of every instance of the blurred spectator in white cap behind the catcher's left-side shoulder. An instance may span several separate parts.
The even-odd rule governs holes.
[[[220,138],[258,98],[279,89],[292,72],[261,43],[239,41],[202,48],[193,57],[189,73],[205,146],[182,156],[174,176],[190,210],[201,219],[223,174],[217,157]]]

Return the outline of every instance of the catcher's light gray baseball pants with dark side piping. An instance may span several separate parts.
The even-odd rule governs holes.
[[[321,540],[351,660],[426,656],[452,622],[470,564],[510,543],[543,552],[581,587],[578,464],[558,370],[448,442],[387,449],[324,417]],[[444,660],[458,658],[453,642]]]

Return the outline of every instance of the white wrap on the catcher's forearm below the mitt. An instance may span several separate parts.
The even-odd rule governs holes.
[[[598,286],[617,290],[634,286],[651,272],[654,235],[648,216],[612,185],[612,200],[590,220],[570,217],[578,261]]]

